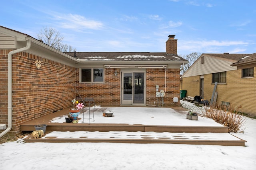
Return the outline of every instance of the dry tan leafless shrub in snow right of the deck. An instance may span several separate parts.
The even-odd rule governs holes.
[[[216,104],[215,106],[206,107],[202,112],[205,117],[209,117],[217,123],[227,126],[230,133],[244,130],[242,126],[245,122],[245,117],[242,116],[240,109],[241,107],[235,109],[231,105],[223,106]]]

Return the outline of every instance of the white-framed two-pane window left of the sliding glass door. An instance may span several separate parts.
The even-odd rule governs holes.
[[[81,68],[81,82],[104,82],[103,68]]]

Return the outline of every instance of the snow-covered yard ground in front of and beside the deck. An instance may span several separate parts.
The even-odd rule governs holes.
[[[181,103],[195,112],[201,110]],[[246,118],[245,127],[235,135],[247,141],[246,147],[18,140],[0,145],[0,170],[255,170],[256,120]]]

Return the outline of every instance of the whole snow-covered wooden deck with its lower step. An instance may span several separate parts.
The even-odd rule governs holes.
[[[100,107],[95,106],[94,121],[88,121],[88,110],[79,115],[78,123],[66,123],[69,109],[46,115],[21,125],[22,131],[34,131],[36,122],[47,124],[40,139],[27,137],[26,142],[115,142],[115,143],[182,143],[200,145],[244,146],[246,141],[228,133],[212,119],[198,116],[186,119],[182,107]],[[93,107],[90,107],[92,118]],[[102,113],[112,111],[113,117]],[[84,123],[83,123],[84,121]]]

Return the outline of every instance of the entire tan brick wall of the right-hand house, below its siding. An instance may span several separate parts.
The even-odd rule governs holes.
[[[227,71],[226,84],[218,84],[216,92],[218,92],[217,103],[222,101],[230,102],[233,107],[242,106],[244,113],[256,115],[256,67],[254,67],[254,78],[241,78],[241,69]],[[188,96],[196,96],[200,94],[200,84],[192,83],[199,76],[182,78],[182,87],[188,90]],[[198,89],[198,90],[197,90]],[[204,75],[204,98],[210,101],[214,83],[212,83],[212,74]],[[195,93],[196,90],[198,94]]]

